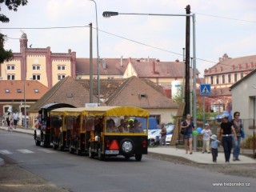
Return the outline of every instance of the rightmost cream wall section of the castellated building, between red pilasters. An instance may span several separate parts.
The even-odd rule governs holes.
[[[65,66],[65,70],[58,70],[58,66]],[[52,62],[52,79],[53,86],[59,81],[58,75],[64,74],[65,77],[71,76],[71,62],[70,60],[54,60]]]

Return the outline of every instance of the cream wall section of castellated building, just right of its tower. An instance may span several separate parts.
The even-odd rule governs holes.
[[[39,65],[40,70],[33,70],[34,65]],[[30,78],[32,78],[34,74],[40,74],[40,80],[38,80],[38,82],[41,82],[44,86],[48,87],[48,80],[46,77],[46,56],[28,55],[26,57],[26,66],[26,80],[30,80]]]

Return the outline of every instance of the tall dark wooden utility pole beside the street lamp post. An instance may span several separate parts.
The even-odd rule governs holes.
[[[190,5],[186,6],[186,84],[185,84],[185,114],[190,113]]]

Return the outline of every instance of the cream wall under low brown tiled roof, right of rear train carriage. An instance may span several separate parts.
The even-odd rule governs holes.
[[[173,122],[172,116],[177,115],[178,109],[146,109],[150,111],[150,115],[161,115],[161,122]]]

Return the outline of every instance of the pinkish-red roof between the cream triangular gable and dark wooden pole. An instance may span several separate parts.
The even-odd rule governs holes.
[[[182,78],[184,62],[160,62],[132,60],[139,78]],[[154,66],[155,65],[155,66]],[[197,70],[197,74],[199,71]]]

